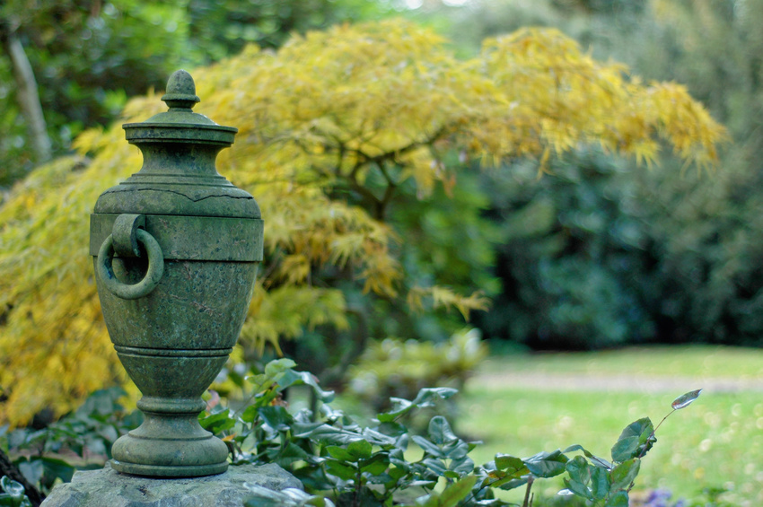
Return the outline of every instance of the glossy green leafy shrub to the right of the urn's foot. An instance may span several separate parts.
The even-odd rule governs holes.
[[[293,366],[286,360],[269,363],[264,373],[249,380],[255,386],[250,405],[236,412],[215,406],[209,415],[200,416],[208,430],[228,442],[233,464],[275,462],[289,468],[306,487],[307,493],[299,494],[271,494],[256,488],[248,505],[278,501],[320,505],[323,497],[331,502],[328,505],[347,506],[501,506],[509,503],[496,499],[494,490],[524,486],[529,495],[535,480],[566,474],[561,494],[575,494],[601,507],[627,506],[641,459],[655,441],[655,428],[644,418],[629,424],[620,435],[611,463],[574,445],[526,459],[496,454],[493,461],[476,466],[469,452],[478,442],[461,440],[442,415],[430,419],[424,435],[412,433],[400,422],[410,412],[431,406],[436,398],[450,398],[455,389],[422,389],[412,400],[392,398],[391,409],[364,427],[328,405],[320,407],[320,416],[307,409],[296,414],[287,411],[277,401],[281,393],[308,378],[306,373],[294,372]],[[320,398],[329,398],[316,384],[310,385]],[[677,398],[673,411],[688,406],[698,394],[693,391]],[[409,449],[412,443],[417,452]],[[579,454],[571,458],[574,452]],[[412,459],[414,455],[420,458]],[[438,484],[444,489],[435,493]]]

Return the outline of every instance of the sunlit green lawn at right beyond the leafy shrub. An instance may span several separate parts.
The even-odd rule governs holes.
[[[532,389],[501,372],[548,374],[558,389]],[[686,377],[693,380],[763,379],[763,351],[723,347],[639,348],[592,354],[539,354],[492,357],[461,396],[459,433],[484,441],[472,451],[478,463],[496,452],[527,457],[540,450],[582,444],[610,457],[622,429],[649,416],[654,424],[671,412],[671,401],[702,385],[678,392],[637,389],[574,389],[576,376]],[[515,377],[512,377],[515,379]],[[707,389],[697,401],[662,425],[645,457],[636,489],[665,488],[673,498],[692,499],[706,487],[729,490],[732,505],[763,505],[763,397],[760,392]],[[536,483],[544,496],[556,494],[561,480]],[[521,502],[521,492],[510,500]]]

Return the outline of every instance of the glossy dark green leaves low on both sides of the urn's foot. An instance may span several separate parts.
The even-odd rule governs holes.
[[[656,441],[656,428],[643,418],[620,434],[611,449],[611,462],[573,445],[525,459],[499,453],[479,466],[469,458],[469,452],[480,442],[461,440],[442,415],[430,419],[425,434],[415,433],[403,423],[407,415],[434,406],[438,399],[451,398],[456,389],[425,388],[413,399],[391,398],[390,409],[365,426],[326,404],[333,399],[333,392],[320,389],[309,372],[295,371],[291,360],[267,363],[262,372],[240,381],[249,386],[250,398],[235,410],[213,398],[206,412],[199,415],[199,423],[226,443],[232,466],[276,463],[289,469],[305,486],[305,492],[274,492],[248,485],[251,495],[245,504],[250,506],[499,507],[510,503],[496,499],[496,490],[525,486],[526,507],[534,481],[562,474],[566,474],[566,489],[560,494],[578,495],[601,507],[627,506],[641,459]],[[307,408],[296,412],[288,409],[285,391],[296,386],[306,386],[320,399],[320,415]],[[700,392],[698,389],[676,398],[671,413],[662,421],[693,403]],[[10,433],[11,449],[37,452],[29,459],[17,459],[23,476],[49,491],[55,481],[67,482],[75,469],[88,465],[75,465],[60,456],[51,458],[48,453],[74,450],[84,458],[90,450],[108,457],[118,435],[140,423],[136,413],[128,415],[119,405],[118,398],[124,394],[116,388],[98,391],[75,413],[48,429]],[[580,454],[570,458],[574,452]],[[22,485],[4,477],[0,486],[5,491],[0,494],[0,505],[25,505],[19,503]]]

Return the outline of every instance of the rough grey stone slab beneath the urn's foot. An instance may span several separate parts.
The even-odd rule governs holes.
[[[216,476],[155,479],[112,469],[76,472],[57,485],[43,507],[241,507],[250,492],[244,483],[273,491],[303,489],[296,477],[275,464],[231,466]]]

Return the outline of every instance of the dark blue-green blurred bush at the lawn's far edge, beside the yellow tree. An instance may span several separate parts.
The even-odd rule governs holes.
[[[479,316],[487,337],[537,348],[596,348],[652,339],[657,287],[633,175],[596,150],[490,171],[488,216],[501,228],[495,274],[504,311]],[[638,275],[636,275],[638,274]]]

